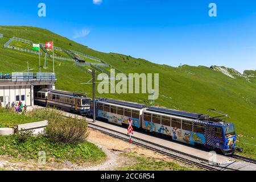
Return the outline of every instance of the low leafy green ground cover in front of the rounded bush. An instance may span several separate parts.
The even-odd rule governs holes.
[[[90,142],[56,143],[45,136],[28,137],[20,141],[16,134],[0,136],[0,155],[9,155],[16,159],[38,160],[40,151],[46,152],[47,162],[68,160],[79,165],[87,162],[100,162],[106,157],[100,148]]]

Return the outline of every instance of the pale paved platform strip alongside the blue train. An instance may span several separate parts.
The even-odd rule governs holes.
[[[88,121],[90,123],[93,122],[93,120],[90,118],[86,118],[86,121]],[[110,130],[117,131],[118,133],[127,134],[127,129],[125,129],[121,126],[118,126],[118,125],[114,125],[113,123],[97,121],[92,124],[96,125],[96,126],[100,126],[100,127],[105,127]],[[144,140],[146,142],[150,142],[152,144],[155,143],[156,145],[163,146],[164,148],[167,148],[171,151],[179,152],[181,154],[191,156],[192,158],[204,160],[205,162],[209,162],[209,160],[210,160],[211,163],[215,163],[215,164],[217,164],[217,166],[225,165],[225,164],[232,162],[232,159],[229,158],[228,156],[216,154],[216,156],[213,157],[209,154],[208,151],[202,151],[197,148],[186,146],[185,144],[172,142],[171,140],[161,139],[158,137],[140,133],[138,131],[134,131],[133,138],[142,139],[142,140]]]

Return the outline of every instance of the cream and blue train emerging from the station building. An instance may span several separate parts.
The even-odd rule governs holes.
[[[34,93],[34,103],[54,106],[61,110],[80,115],[88,115],[92,99],[82,94],[62,90],[42,89]]]

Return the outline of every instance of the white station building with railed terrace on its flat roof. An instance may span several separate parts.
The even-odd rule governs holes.
[[[0,75],[0,105],[23,102],[23,105],[34,106],[34,92],[48,88],[55,89],[55,73],[12,73]]]

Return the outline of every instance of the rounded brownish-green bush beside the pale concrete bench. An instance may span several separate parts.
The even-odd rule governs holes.
[[[82,143],[88,137],[88,125],[85,119],[60,117],[48,122],[46,135],[54,142]]]

